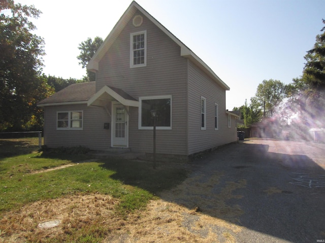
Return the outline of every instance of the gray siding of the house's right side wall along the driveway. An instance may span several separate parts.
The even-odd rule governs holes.
[[[201,130],[201,97],[206,99],[206,130]],[[218,130],[214,129],[214,104],[218,104]],[[225,90],[188,61],[188,154],[236,141],[235,119],[228,128]]]

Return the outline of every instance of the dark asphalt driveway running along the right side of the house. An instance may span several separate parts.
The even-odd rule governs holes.
[[[233,241],[325,242],[325,144],[245,140],[190,169],[182,187],[161,197],[240,226]]]

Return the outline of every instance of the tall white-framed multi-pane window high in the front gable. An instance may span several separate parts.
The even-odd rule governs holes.
[[[131,33],[130,67],[145,67],[147,65],[147,31]]]

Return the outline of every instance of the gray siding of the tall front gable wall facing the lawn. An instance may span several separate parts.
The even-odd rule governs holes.
[[[147,31],[147,66],[130,68],[130,33],[143,30]],[[145,96],[171,95],[172,130],[157,130],[156,152],[187,155],[186,66],[180,47],[144,17],[140,27],[129,22],[100,61],[96,91],[105,85],[113,86],[137,100]],[[139,130],[138,112],[138,107],[129,107],[129,148],[152,152],[153,131]]]

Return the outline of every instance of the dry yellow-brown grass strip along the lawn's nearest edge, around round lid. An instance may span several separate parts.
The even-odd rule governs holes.
[[[37,201],[7,212],[0,220],[0,242],[236,242],[241,227],[164,200],[122,217],[109,195],[71,195]],[[40,228],[47,220],[61,220]]]

